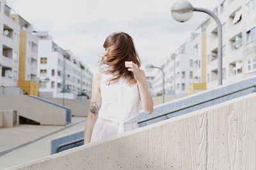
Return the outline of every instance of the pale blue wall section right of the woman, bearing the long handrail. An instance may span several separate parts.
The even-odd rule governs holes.
[[[140,127],[160,122],[168,118],[177,117],[179,115],[184,115],[191,111],[200,110],[202,108],[207,108],[215,104],[223,103],[231,99],[236,99],[237,97],[246,96],[256,91],[256,76],[252,78],[239,80],[235,83],[230,83],[228,85],[221,85],[220,87],[213,90],[205,90],[198,94],[193,94],[191,96],[182,97],[174,101],[170,101],[164,104],[159,104],[154,106],[154,111],[148,115],[141,110],[138,117],[138,122],[145,118],[155,117],[163,113],[170,113],[168,115],[154,118],[154,120],[148,120],[140,124]],[[184,108],[184,107],[187,108]],[[180,109],[184,108],[184,109]]]

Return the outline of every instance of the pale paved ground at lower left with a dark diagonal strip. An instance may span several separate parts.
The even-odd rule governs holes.
[[[65,126],[26,125],[0,129],[0,169],[51,155],[51,140],[83,130],[86,117],[72,117]]]

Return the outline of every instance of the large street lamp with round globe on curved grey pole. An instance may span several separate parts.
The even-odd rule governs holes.
[[[193,11],[200,11],[209,14],[216,21],[218,27],[218,85],[222,85],[222,27],[220,19],[212,11],[205,8],[195,8],[186,0],[178,0],[172,6],[172,17],[178,22],[188,21]]]

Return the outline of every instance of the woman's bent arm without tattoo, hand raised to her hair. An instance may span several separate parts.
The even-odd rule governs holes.
[[[139,87],[141,106],[145,113],[150,114],[154,110],[154,103],[150,93],[148,92],[147,80],[145,72],[133,62],[125,62],[125,67],[129,67],[128,70],[132,71],[134,78],[136,79]]]

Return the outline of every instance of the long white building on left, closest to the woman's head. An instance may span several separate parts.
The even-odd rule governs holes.
[[[74,99],[81,92],[91,93],[93,74],[72,52],[63,50],[52,41],[48,32],[38,32],[38,76],[40,96]],[[65,75],[65,76],[64,76]],[[49,78],[49,82],[44,79]]]

